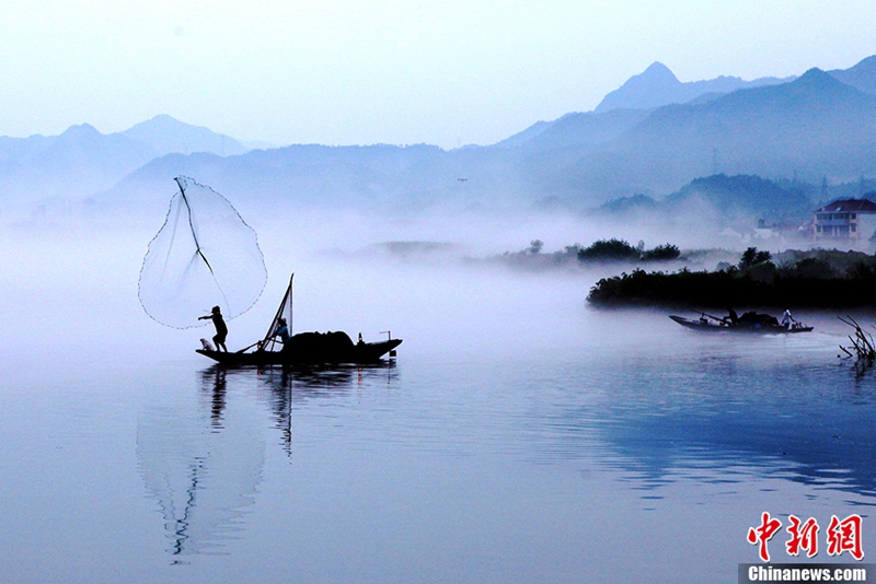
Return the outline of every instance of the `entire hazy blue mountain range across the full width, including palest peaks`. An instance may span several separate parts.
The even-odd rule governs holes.
[[[654,63],[593,112],[450,151],[426,144],[250,150],[169,116],[110,135],[81,125],[55,137],[0,137],[0,217],[50,208],[53,200],[163,205],[180,174],[265,209],[556,203],[584,210],[633,194],[666,197],[717,174],[855,182],[876,174],[876,56],[850,69],[749,82],[682,83]]]

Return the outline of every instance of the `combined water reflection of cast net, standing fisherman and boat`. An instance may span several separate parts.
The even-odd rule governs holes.
[[[396,376],[392,362],[368,367],[215,365],[200,372],[199,392],[182,388],[183,401],[147,408],[138,421],[137,456],[164,519],[173,563],[223,553],[224,542],[244,530],[263,478],[265,406],[291,456],[295,408],[348,396],[364,384],[392,383]],[[194,400],[185,401],[186,396]]]

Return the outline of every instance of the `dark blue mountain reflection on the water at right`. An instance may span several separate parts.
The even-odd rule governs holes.
[[[569,389],[542,418],[565,445],[552,454],[596,454],[637,489],[754,474],[876,497],[876,379],[853,367],[787,351],[762,361],[627,355]]]

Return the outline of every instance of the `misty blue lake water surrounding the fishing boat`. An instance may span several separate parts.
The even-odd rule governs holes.
[[[397,360],[218,369],[138,303],[149,229],[2,234],[0,581],[733,582],[764,511],[857,513],[869,551],[876,377],[835,314],[704,337],[588,307],[586,270],[265,231],[231,350],[295,271],[296,331]]]

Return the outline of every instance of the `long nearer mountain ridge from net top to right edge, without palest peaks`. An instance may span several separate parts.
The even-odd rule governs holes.
[[[634,192],[659,199],[721,173],[798,173],[816,184],[822,176],[835,182],[876,173],[876,97],[817,69],[791,83],[738,90],[706,103],[570,114],[537,130],[518,145],[453,151],[295,145],[224,159],[164,156],[108,195],[118,200],[129,188],[146,196],[152,186],[137,185],[149,184],[164,197],[173,176],[188,174],[265,208],[417,209],[551,199],[585,209]]]

